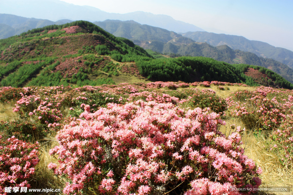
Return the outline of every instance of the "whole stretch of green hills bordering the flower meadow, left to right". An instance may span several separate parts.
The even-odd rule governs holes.
[[[184,44],[191,40],[182,36],[177,39]],[[161,55],[149,54],[130,40],[115,37],[86,21],[29,30],[19,36],[2,39],[0,44],[1,86],[218,80],[254,86],[293,87],[269,70],[265,73],[265,80],[258,81],[244,74],[247,68],[235,68],[211,58],[162,58]],[[213,48],[208,44],[202,45]],[[215,57],[213,55],[219,55],[221,48],[218,52],[211,51],[206,55]],[[157,57],[161,58],[154,59]]]

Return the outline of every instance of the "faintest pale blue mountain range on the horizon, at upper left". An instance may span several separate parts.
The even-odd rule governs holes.
[[[204,31],[195,25],[174,20],[168,15],[155,15],[142,11],[125,14],[107,13],[95,7],[77,6],[59,0],[0,0],[0,5],[1,10],[5,10],[5,13],[28,18],[42,18],[52,21],[61,19],[87,20],[90,22],[107,19],[135,20],[141,24],[161,27],[175,32]]]

